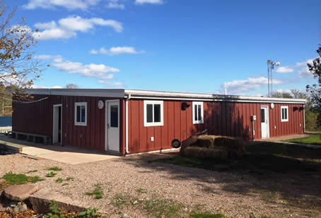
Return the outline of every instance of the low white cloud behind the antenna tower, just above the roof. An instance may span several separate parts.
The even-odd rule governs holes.
[[[282,80],[273,80],[275,85],[282,84]],[[228,94],[242,93],[250,90],[255,90],[263,85],[267,85],[267,78],[248,78],[247,80],[233,80],[232,82],[225,83]],[[224,85],[222,86],[224,87]]]

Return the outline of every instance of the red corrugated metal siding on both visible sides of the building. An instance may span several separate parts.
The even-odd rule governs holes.
[[[43,95],[35,95],[33,101]],[[32,104],[13,102],[13,131],[52,135],[54,104],[62,104],[63,145],[105,150],[105,107],[98,109],[98,101],[104,97],[49,96]],[[74,103],[88,102],[87,126],[74,126]],[[256,115],[255,139],[261,138],[260,106],[270,104],[241,102],[204,102],[204,123],[192,124],[192,102],[182,111],[181,101],[164,101],[164,125],[144,127],[144,100],[131,99],[129,105],[129,152],[146,152],[171,147],[173,139],[185,140],[192,133],[208,129],[212,135],[230,135],[252,140],[250,116]],[[125,108],[120,99],[119,141],[124,154]],[[269,107],[270,137],[303,133],[302,104],[274,104]],[[281,106],[288,106],[288,122],[281,122]],[[151,142],[150,138],[154,137]]]

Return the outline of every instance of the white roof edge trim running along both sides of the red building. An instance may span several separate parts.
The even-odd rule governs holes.
[[[274,97],[251,97],[238,95],[198,94],[187,92],[159,92],[145,90],[124,89],[29,89],[28,94],[34,95],[70,95],[91,97],[116,97],[124,98],[128,95],[134,99],[163,99],[182,101],[214,101],[214,102],[260,102],[305,104],[305,99],[282,99]]]

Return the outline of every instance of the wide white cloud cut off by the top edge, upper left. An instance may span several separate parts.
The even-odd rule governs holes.
[[[100,0],[29,0],[28,4],[23,5],[26,9],[45,8],[53,9],[57,6],[69,10],[87,10],[90,6],[95,6]]]

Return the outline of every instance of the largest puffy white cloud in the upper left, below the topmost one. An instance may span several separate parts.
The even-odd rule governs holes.
[[[76,37],[77,32],[87,32],[95,28],[95,25],[108,26],[116,32],[122,32],[124,29],[122,23],[116,20],[104,20],[103,18],[81,18],[80,16],[69,16],[49,23],[36,23],[35,28],[42,31],[35,32],[37,40],[59,40]]]

